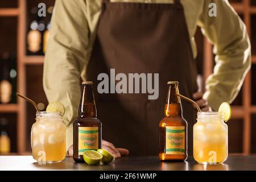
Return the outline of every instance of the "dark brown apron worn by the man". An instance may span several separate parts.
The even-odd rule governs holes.
[[[125,73],[127,82],[129,73],[159,73],[159,98],[148,100],[148,94],[139,93],[99,94],[97,85],[101,80],[97,76],[106,73],[110,82],[111,68],[115,75]],[[87,80],[94,82],[103,139],[128,148],[130,155],[157,155],[167,81],[179,81],[180,93],[191,98],[197,91],[196,76],[179,0],[173,4],[103,1],[97,38],[86,69]],[[182,101],[182,107],[188,122],[188,150],[192,154],[196,110],[187,101]]]

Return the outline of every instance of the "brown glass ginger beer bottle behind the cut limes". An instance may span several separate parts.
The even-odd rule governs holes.
[[[73,123],[73,159],[84,162],[82,154],[86,150],[101,148],[101,122],[97,119],[93,82],[82,82],[79,117]]]

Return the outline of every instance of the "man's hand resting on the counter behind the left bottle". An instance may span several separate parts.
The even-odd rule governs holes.
[[[102,140],[102,148],[109,151],[115,159],[121,158],[129,154],[129,150],[126,148],[115,148],[113,143]],[[67,156],[73,156],[73,145],[68,148]]]

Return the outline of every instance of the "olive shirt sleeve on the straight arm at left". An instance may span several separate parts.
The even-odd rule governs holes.
[[[88,56],[86,3],[56,0],[44,60],[43,86],[49,102],[65,106],[68,149],[73,144],[73,121],[78,116],[80,75]]]

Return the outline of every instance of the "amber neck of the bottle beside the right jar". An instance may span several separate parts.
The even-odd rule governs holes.
[[[177,84],[168,85],[168,94],[166,98],[166,106],[164,108],[165,117],[182,117],[182,107],[180,97],[177,96],[179,89]]]

